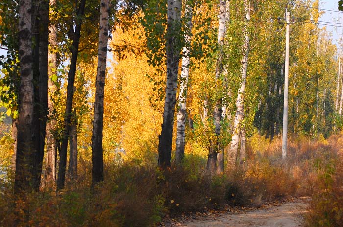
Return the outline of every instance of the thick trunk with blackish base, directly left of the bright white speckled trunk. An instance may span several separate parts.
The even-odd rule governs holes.
[[[177,39],[175,38],[177,36],[175,32],[178,30],[177,25],[181,19],[181,6],[180,0],[167,1],[167,80],[162,130],[160,136],[158,136],[158,165],[161,168],[170,166],[172,157],[172,132],[176,104],[178,65],[180,61],[180,50]]]

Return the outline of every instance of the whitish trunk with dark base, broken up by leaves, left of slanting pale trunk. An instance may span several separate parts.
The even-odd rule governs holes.
[[[223,55],[224,55],[224,40],[226,32],[226,0],[220,0],[219,2],[219,22],[218,22],[218,45],[219,53],[216,63],[216,84],[223,72]],[[221,113],[222,113],[222,100],[218,100],[214,109],[214,122],[215,122],[215,134],[220,135],[221,131]],[[209,175],[213,175],[217,171],[217,154],[221,151],[219,142],[211,144],[209,149],[209,155],[207,159],[206,172]],[[215,160],[213,160],[215,159]]]

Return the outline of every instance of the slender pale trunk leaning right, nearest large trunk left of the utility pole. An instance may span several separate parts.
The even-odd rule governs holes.
[[[230,153],[228,163],[231,166],[236,164],[237,151],[239,145],[239,138],[241,133],[241,124],[244,117],[244,94],[245,94],[245,83],[246,83],[246,74],[248,66],[248,56],[249,56],[249,32],[247,29],[248,22],[250,20],[250,5],[248,0],[244,0],[244,11],[245,11],[245,20],[244,20],[244,43],[243,43],[243,59],[242,59],[242,80],[241,86],[238,90],[237,100],[236,100],[236,114],[234,120],[234,130],[231,141]]]

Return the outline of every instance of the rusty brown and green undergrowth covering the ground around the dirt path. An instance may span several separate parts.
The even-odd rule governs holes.
[[[341,138],[290,141],[286,161],[280,138],[263,150],[248,143],[243,166],[212,177],[204,174],[206,159],[192,154],[182,168],[164,171],[137,162],[107,164],[106,180],[93,191],[87,162],[78,180],[58,193],[43,188],[18,199],[11,181],[0,182],[0,226],[154,226],[166,214],[260,206],[296,195],[312,198],[307,226],[343,226]]]

